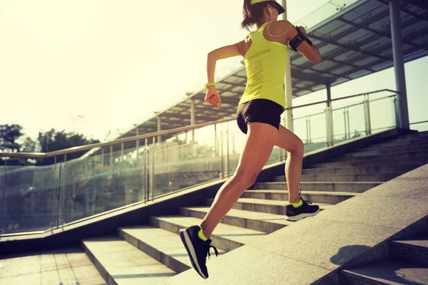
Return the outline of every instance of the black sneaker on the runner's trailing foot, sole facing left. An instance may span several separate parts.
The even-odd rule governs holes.
[[[188,227],[187,229],[180,229],[179,234],[181,241],[184,244],[185,249],[187,250],[190,261],[192,262],[193,268],[198,272],[203,279],[208,278],[208,269],[205,266],[208,257],[210,257],[210,248],[212,247],[215,252],[215,256],[218,256],[218,251],[211,244],[211,239],[208,239],[204,242],[198,236],[200,231],[199,226]]]

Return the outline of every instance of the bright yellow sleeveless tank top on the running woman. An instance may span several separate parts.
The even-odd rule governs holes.
[[[247,86],[239,103],[268,99],[285,108],[284,77],[288,46],[265,39],[263,30],[269,23],[249,34],[251,46],[244,56]]]

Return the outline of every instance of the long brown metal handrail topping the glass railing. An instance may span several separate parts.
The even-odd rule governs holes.
[[[345,99],[349,99],[349,98],[355,98],[355,97],[358,97],[361,95],[370,95],[370,94],[374,94],[374,93],[380,93],[380,92],[384,92],[384,91],[389,91],[389,92],[396,93],[396,94],[398,93],[397,91],[394,91],[394,90],[382,89],[382,90],[375,90],[375,91],[368,92],[368,93],[360,93],[360,94],[356,94],[356,95],[350,95],[350,96],[346,96],[346,97],[342,97],[342,98],[332,99],[331,102],[337,101],[337,100],[345,100]],[[298,106],[286,108],[285,110],[292,110],[292,109],[297,109],[297,108],[302,108],[302,107],[307,107],[310,105],[317,105],[317,104],[327,103],[327,102],[328,102],[327,100],[322,100],[322,101],[319,101],[316,103],[310,103],[310,104],[298,105]],[[232,120],[235,120],[235,118],[226,118],[223,120],[216,120],[216,121],[212,121],[212,122],[201,123],[198,125],[190,125],[190,126],[175,128],[175,129],[171,129],[171,130],[161,130],[160,132],[156,132],[156,133],[148,133],[145,135],[136,135],[136,136],[129,137],[129,138],[122,138],[122,139],[118,139],[118,140],[113,140],[111,142],[98,142],[98,143],[93,143],[91,145],[82,145],[80,147],[70,147],[70,148],[66,148],[64,150],[56,150],[53,152],[0,152],[0,157],[42,158],[42,157],[54,157],[57,155],[67,155],[67,154],[73,153],[73,152],[81,152],[84,150],[91,150],[91,149],[96,148],[96,147],[107,147],[107,146],[111,146],[111,145],[118,145],[118,144],[121,144],[124,142],[134,142],[136,140],[144,140],[146,138],[153,138],[153,137],[157,137],[160,135],[169,135],[171,133],[183,133],[183,132],[187,132],[189,130],[197,130],[199,128],[208,127],[210,125],[227,123],[227,122],[230,122]]]

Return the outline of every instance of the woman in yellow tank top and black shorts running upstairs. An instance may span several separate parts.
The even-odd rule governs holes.
[[[277,20],[283,12],[285,9],[277,1],[244,0],[241,26],[248,31],[255,26],[256,31],[250,32],[243,41],[208,53],[205,101],[218,108],[221,98],[215,89],[215,63],[233,56],[244,58],[248,81],[238,104],[237,123],[247,139],[235,174],[220,187],[203,222],[180,230],[193,268],[203,279],[208,278],[205,262],[213,247],[210,239],[213,230],[243,192],[254,184],[275,145],[289,153],[285,163],[289,193],[285,219],[298,221],[320,212],[320,207],[300,197],[303,142],[280,125],[280,115],[285,110],[288,44],[312,63],[319,63],[321,56],[317,46],[307,38],[305,28]],[[213,249],[218,255],[217,249]]]

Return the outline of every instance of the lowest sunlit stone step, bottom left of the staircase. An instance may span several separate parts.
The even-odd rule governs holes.
[[[83,239],[83,249],[109,285],[159,284],[174,271],[119,237]]]

